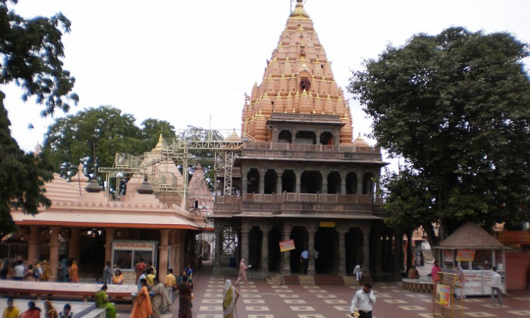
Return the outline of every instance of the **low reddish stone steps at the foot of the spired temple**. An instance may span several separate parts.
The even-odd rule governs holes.
[[[302,286],[321,286],[321,285],[345,285],[345,286],[359,286],[358,281],[355,281],[353,276],[336,276],[336,275],[289,275],[282,276],[275,274],[267,278],[267,282],[271,285],[302,285]]]

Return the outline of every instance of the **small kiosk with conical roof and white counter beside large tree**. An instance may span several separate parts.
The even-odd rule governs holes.
[[[462,225],[440,245],[434,248],[436,258],[445,273],[457,274],[464,269],[464,295],[490,295],[490,275],[493,266],[502,277],[502,292],[506,293],[505,247],[480,225],[468,222]]]

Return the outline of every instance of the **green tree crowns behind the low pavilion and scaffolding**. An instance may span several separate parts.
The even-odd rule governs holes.
[[[141,155],[156,145],[158,136],[175,137],[169,122],[146,119],[136,126],[131,114],[110,106],[90,108],[57,119],[45,134],[44,151],[62,177],[71,177],[83,163],[86,175],[112,167],[116,153]]]

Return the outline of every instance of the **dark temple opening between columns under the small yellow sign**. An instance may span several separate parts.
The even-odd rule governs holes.
[[[334,228],[319,228],[314,234],[314,249],[319,251],[319,268],[317,273],[336,273],[338,262],[338,234]],[[315,264],[316,266],[316,264]]]

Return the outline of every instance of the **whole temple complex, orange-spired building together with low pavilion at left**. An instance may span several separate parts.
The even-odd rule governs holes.
[[[162,280],[168,268],[206,260],[214,274],[232,274],[246,259],[252,278],[288,278],[302,273],[307,249],[309,276],[351,276],[363,264],[365,276],[401,277],[401,235],[384,226],[376,193],[387,163],[379,147],[354,136],[351,109],[301,0],[261,83],[233,116],[241,131],[224,139],[160,136],[149,153],[117,154],[113,167],[98,170],[107,185],[126,182],[116,194],[82,166],[70,182],[56,175],[46,185],[50,208],[13,211],[20,231],[8,239],[10,254],[49,259],[52,269],[76,259],[80,272],[100,273],[112,261],[131,278],[143,257]],[[213,191],[204,171],[211,162]]]

